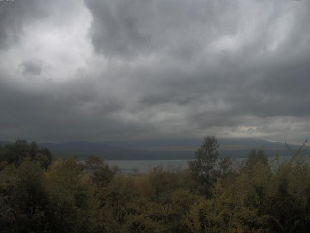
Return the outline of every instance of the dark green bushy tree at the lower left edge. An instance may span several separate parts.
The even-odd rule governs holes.
[[[0,172],[0,200],[16,210],[21,233],[44,232],[46,229],[49,195],[44,172],[38,162],[26,157],[20,166],[6,166]]]

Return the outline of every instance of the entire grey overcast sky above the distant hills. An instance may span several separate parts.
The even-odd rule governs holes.
[[[0,140],[310,135],[310,1],[0,1]]]

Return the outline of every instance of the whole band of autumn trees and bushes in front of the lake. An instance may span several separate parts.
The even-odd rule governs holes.
[[[22,233],[310,231],[303,147],[283,162],[253,149],[236,163],[218,159],[219,146],[205,137],[186,170],[157,166],[132,176],[94,155],[85,163],[55,160],[48,149],[17,140],[0,147],[0,219],[13,208]]]

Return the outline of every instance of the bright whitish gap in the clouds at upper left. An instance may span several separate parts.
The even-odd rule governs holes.
[[[75,3],[74,14],[48,14],[23,25],[16,46],[1,54],[6,60],[5,69],[10,70],[12,76],[30,82],[65,82],[80,77],[81,71],[88,69],[93,57],[88,36],[92,15],[83,1]],[[54,14],[61,8],[53,7]],[[32,64],[40,72],[28,73],[23,64]]]

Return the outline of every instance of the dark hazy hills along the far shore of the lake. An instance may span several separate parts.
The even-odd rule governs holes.
[[[264,147],[268,156],[279,153],[280,156],[290,156],[290,150],[284,143],[270,142],[258,139],[218,139],[220,157],[246,157],[252,148]],[[1,145],[12,142],[0,141]],[[200,147],[202,140],[144,140],[109,143],[68,142],[68,143],[38,143],[39,147],[47,147],[55,157],[78,156],[81,159],[90,154],[100,156],[105,160],[163,160],[192,159],[194,151]],[[294,150],[298,145],[290,145]],[[308,151],[309,147],[306,147]],[[309,152],[308,152],[309,153]]]

